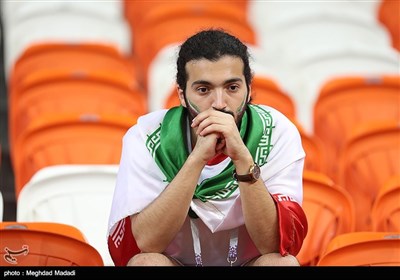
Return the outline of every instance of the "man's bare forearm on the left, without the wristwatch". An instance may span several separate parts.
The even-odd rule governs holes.
[[[163,252],[181,229],[204,163],[189,156],[167,188],[131,218],[132,233],[143,252]]]

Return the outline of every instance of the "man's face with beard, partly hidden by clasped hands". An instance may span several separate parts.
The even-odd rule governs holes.
[[[223,56],[217,61],[189,61],[186,93],[179,90],[179,98],[190,118],[212,107],[233,115],[239,123],[250,98],[243,67],[242,60],[235,56]]]

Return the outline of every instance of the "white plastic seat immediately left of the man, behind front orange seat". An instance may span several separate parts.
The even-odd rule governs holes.
[[[44,167],[21,190],[17,221],[72,225],[112,266],[106,236],[117,171],[117,164]]]

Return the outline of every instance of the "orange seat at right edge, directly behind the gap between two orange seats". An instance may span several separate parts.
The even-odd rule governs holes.
[[[400,170],[400,119],[356,127],[337,162],[339,184],[356,202],[356,230],[371,230],[379,189]]]

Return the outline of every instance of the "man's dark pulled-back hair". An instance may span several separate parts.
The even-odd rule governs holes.
[[[247,46],[238,38],[222,29],[207,29],[189,37],[181,46],[177,59],[176,82],[186,92],[186,64],[191,60],[208,59],[216,61],[224,55],[236,56],[242,59],[243,75],[247,91],[252,79]]]

